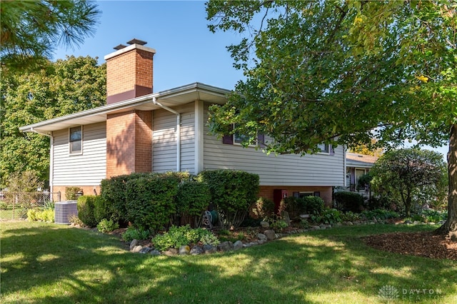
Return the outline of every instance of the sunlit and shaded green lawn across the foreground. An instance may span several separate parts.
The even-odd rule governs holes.
[[[117,238],[69,226],[0,228],[1,303],[386,303],[378,296],[386,286],[398,291],[390,303],[457,303],[456,261],[360,240],[430,226],[348,226],[171,258],[129,253]]]

